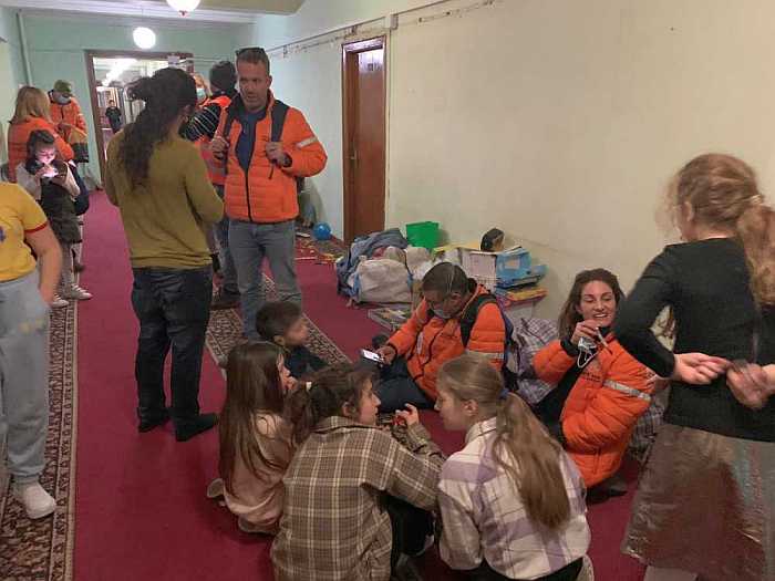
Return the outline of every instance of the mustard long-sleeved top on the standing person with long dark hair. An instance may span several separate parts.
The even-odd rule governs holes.
[[[154,146],[148,177],[133,188],[118,162],[124,132],[107,146],[105,193],[121,210],[135,268],[199,268],[211,262],[206,229],[224,216],[198,149],[178,136]]]

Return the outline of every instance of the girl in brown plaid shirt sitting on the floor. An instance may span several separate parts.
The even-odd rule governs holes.
[[[436,504],[444,456],[413,406],[399,412],[409,449],[376,426],[380,400],[369,370],[331,367],[309,385],[288,402],[299,447],[283,479],[286,505],[271,552],[275,579],[388,581],[399,561],[391,549],[417,553],[425,541],[425,530],[418,546],[395,538],[396,530],[411,530],[406,518],[417,515],[402,509],[404,527],[394,527],[390,504],[423,509],[427,526],[425,511]]]

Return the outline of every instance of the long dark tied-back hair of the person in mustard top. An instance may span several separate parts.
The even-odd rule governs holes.
[[[144,101],[145,108],[134,123],[124,128],[118,160],[132,187],[148,178],[148,164],[156,144],[169,135],[175,120],[186,107],[196,106],[196,83],[179,69],[161,69],[153,76],[143,76],[127,89],[130,100]]]

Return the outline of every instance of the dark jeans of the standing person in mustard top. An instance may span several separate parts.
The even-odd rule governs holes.
[[[140,320],[135,378],[137,416],[153,421],[165,412],[164,361],[172,361],[172,416],[176,424],[199,414],[199,376],[210,318],[213,269],[137,268],[132,307]]]

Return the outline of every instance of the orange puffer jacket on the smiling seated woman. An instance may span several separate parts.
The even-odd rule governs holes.
[[[636,422],[651,403],[647,367],[612,334],[606,339],[609,349],[583,369],[560,417],[566,448],[588,487],[616,474]],[[552,341],[536,354],[533,367],[538,378],[557,384],[575,364],[576,357]]]

